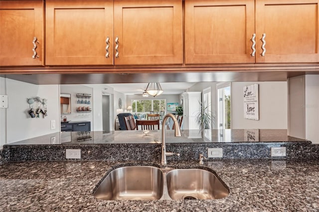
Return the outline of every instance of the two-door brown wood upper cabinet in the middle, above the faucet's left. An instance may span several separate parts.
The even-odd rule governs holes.
[[[46,1],[46,65],[182,62],[181,0]]]

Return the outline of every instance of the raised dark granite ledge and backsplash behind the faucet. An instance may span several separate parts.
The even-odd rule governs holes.
[[[183,130],[182,137],[174,137],[173,130],[167,130],[167,151],[180,153],[180,157],[173,156],[167,160],[195,160],[199,154],[207,157],[208,148],[222,148],[223,156],[220,158],[223,159],[271,159],[272,147],[286,148],[286,156],[281,158],[319,159],[319,145],[290,137],[286,129],[211,130],[211,133],[224,133],[225,136],[211,135],[211,139],[205,139],[198,130]],[[247,133],[255,140],[249,140]],[[70,160],[66,159],[66,149],[80,149],[81,160],[159,160],[159,142],[161,132],[154,130],[147,134],[141,130],[57,132],[4,145],[2,160]]]

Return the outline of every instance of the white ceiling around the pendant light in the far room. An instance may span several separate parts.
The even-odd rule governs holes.
[[[160,83],[163,90],[163,95],[181,94],[188,88],[192,87],[195,83]],[[117,83],[107,84],[114,88],[114,91],[126,94],[143,94],[148,86],[148,83]]]

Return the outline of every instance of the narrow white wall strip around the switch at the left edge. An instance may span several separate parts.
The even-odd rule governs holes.
[[[0,94],[6,95],[5,78],[0,77]],[[0,149],[6,144],[6,108],[0,108]]]

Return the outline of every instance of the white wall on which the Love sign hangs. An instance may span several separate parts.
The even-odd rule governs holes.
[[[259,120],[244,118],[243,88],[259,84]],[[232,82],[231,128],[287,129],[287,82]]]

